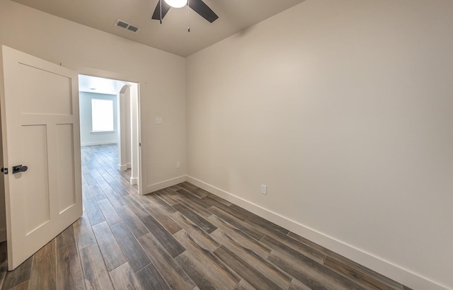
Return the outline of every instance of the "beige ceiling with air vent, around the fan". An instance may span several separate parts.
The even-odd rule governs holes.
[[[219,16],[207,22],[185,6],[171,8],[162,24],[151,15],[158,0],[13,0],[76,23],[187,57],[304,0],[203,0]],[[188,14],[190,13],[190,33]],[[117,28],[117,19],[141,28]]]

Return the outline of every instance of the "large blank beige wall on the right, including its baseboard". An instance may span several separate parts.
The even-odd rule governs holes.
[[[307,0],[188,57],[188,180],[414,289],[452,289],[452,15]]]

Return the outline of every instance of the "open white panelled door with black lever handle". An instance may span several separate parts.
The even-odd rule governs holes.
[[[8,269],[82,215],[78,76],[1,47]],[[13,166],[28,166],[13,172]]]

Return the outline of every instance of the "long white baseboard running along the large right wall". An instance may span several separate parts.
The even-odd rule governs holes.
[[[369,269],[383,274],[390,279],[394,279],[395,281],[408,287],[411,287],[413,289],[430,290],[450,289],[447,288],[447,286],[437,284],[437,282],[423,277],[420,274],[411,272],[411,270],[404,269],[403,267],[399,267],[398,265],[394,265],[393,263],[386,261],[380,257],[376,257],[370,253],[365,252],[364,250],[360,250],[352,245],[348,245],[347,243],[337,240],[336,238],[316,231],[313,228],[299,224],[297,221],[287,219],[285,216],[281,216],[280,214],[260,207],[258,204],[248,202],[246,199],[242,199],[241,197],[233,195],[229,192],[225,192],[224,190],[202,182],[201,180],[197,180],[196,178],[187,175],[186,181],[202,188],[203,190],[211,192],[214,195],[222,197],[229,202],[233,202],[234,204],[239,205],[239,207],[243,207],[244,209],[253,212],[253,214],[257,214],[258,216],[261,216],[268,221],[272,221],[273,223],[282,226],[283,228],[286,228],[293,233],[297,233],[299,236],[307,238],[314,243],[328,248],[329,250],[333,250],[333,252],[343,255],[344,257],[347,257],[348,259],[355,261],[360,265],[368,267]]]

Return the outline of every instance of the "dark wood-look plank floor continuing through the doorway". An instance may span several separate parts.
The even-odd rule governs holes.
[[[1,289],[408,289],[184,182],[139,196],[115,145],[82,147],[84,215]]]

